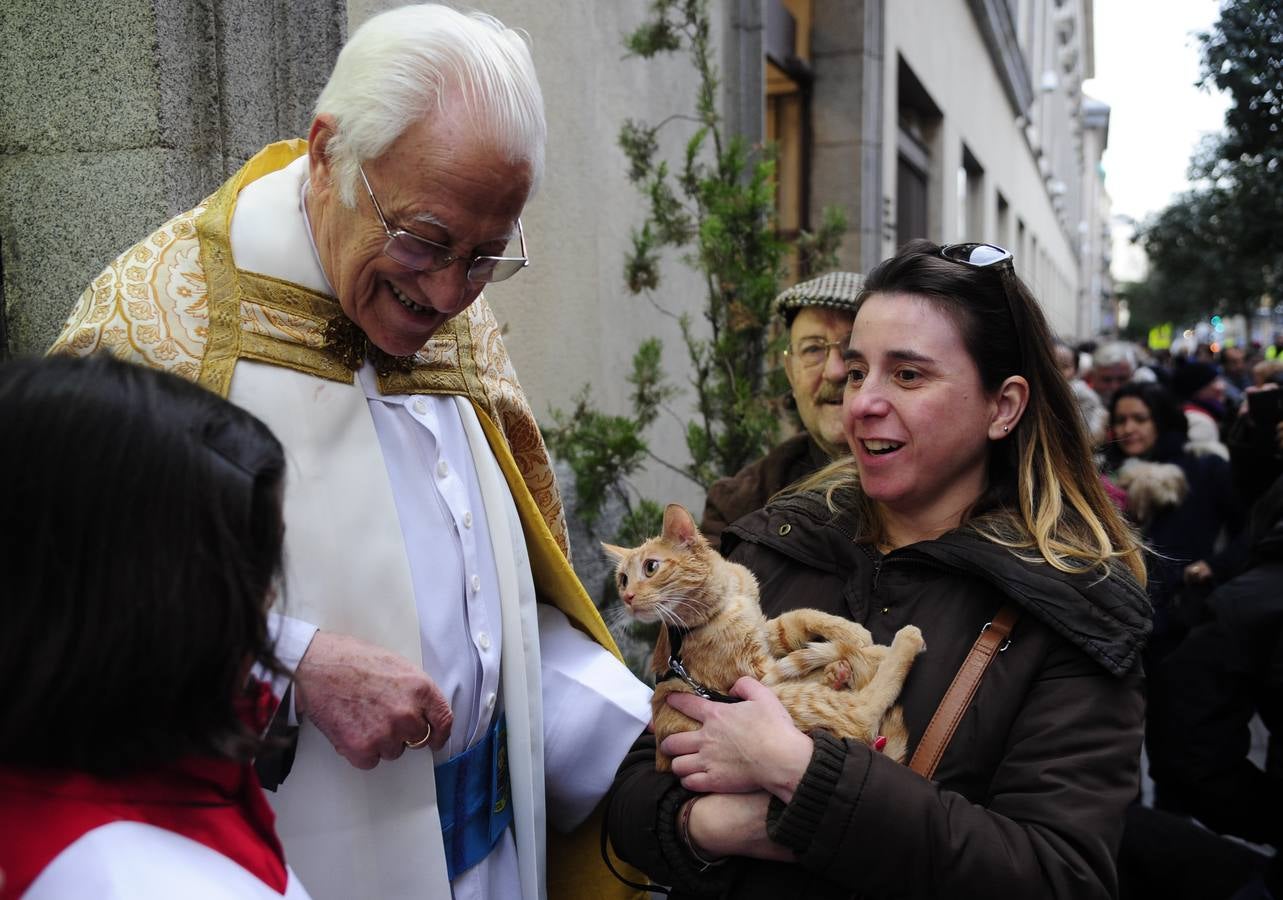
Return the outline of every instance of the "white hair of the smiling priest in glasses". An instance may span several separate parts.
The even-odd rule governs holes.
[[[439,4],[400,6],[368,19],[339,53],[316,114],[337,122],[326,149],[340,199],[357,202],[357,167],[405,130],[462,103],[477,136],[530,166],[531,193],[544,171],[544,98],[525,39],[485,13]]]

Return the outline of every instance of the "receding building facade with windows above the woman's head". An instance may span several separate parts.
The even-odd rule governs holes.
[[[781,185],[783,221],[813,223],[821,204],[839,203],[843,262],[861,270],[912,238],[999,244],[1058,334],[1101,330],[1111,297],[1100,168],[1109,108],[1082,91],[1093,69],[1091,0],[766,8],[767,103],[777,110],[767,122],[786,160],[781,178],[797,178]],[[792,58],[781,49],[790,41],[772,33],[789,30]],[[790,118],[794,108],[801,117]]]

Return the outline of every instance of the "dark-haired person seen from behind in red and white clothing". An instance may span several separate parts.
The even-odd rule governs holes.
[[[307,897],[250,764],[281,444],[105,356],[0,366],[0,897]]]

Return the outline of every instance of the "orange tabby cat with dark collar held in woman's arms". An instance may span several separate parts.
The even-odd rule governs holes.
[[[866,743],[884,736],[884,752],[903,761],[907,732],[892,704],[913,657],[926,648],[916,627],[899,629],[885,647],[862,625],[819,610],[767,620],[753,574],[709,547],[676,503],[665,510],[659,537],[631,550],[602,546],[617,562],[616,583],[629,615],[665,625],[650,662],[658,678],[652,700],[657,743],[699,728],[665,702],[671,692],[726,698],[740,675],[752,675],[775,691],[801,731],[824,728]],[[680,636],[676,660],[670,632]],[[671,768],[658,750],[656,768]]]

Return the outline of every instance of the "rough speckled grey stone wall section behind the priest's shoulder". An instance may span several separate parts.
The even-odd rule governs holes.
[[[0,353],[264,144],[305,136],[343,0],[0,4]]]

